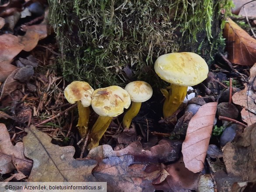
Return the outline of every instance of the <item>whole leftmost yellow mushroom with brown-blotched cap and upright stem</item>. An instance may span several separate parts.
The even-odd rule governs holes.
[[[83,138],[88,131],[88,119],[90,116],[91,94],[94,89],[84,81],[73,81],[65,90],[64,95],[71,104],[77,102],[78,108],[78,131]]]

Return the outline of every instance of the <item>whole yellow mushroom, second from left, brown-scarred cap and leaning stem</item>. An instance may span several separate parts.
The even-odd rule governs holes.
[[[112,118],[122,114],[123,108],[129,108],[130,104],[129,94],[119,86],[96,89],[92,93],[91,107],[99,116],[91,129],[88,149],[98,146]]]

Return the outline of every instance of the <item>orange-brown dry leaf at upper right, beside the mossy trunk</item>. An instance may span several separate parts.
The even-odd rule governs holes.
[[[226,51],[232,63],[252,66],[256,62],[256,39],[230,18],[225,24],[223,36],[227,39]]]

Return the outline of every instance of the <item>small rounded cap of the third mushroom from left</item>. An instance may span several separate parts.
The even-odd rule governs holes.
[[[141,80],[130,82],[124,89],[129,93],[133,102],[147,101],[153,94],[151,85]]]

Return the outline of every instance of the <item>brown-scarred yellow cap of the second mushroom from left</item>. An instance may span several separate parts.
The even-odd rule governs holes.
[[[116,117],[130,104],[128,92],[116,85],[99,88],[92,93],[91,107],[101,116]]]

